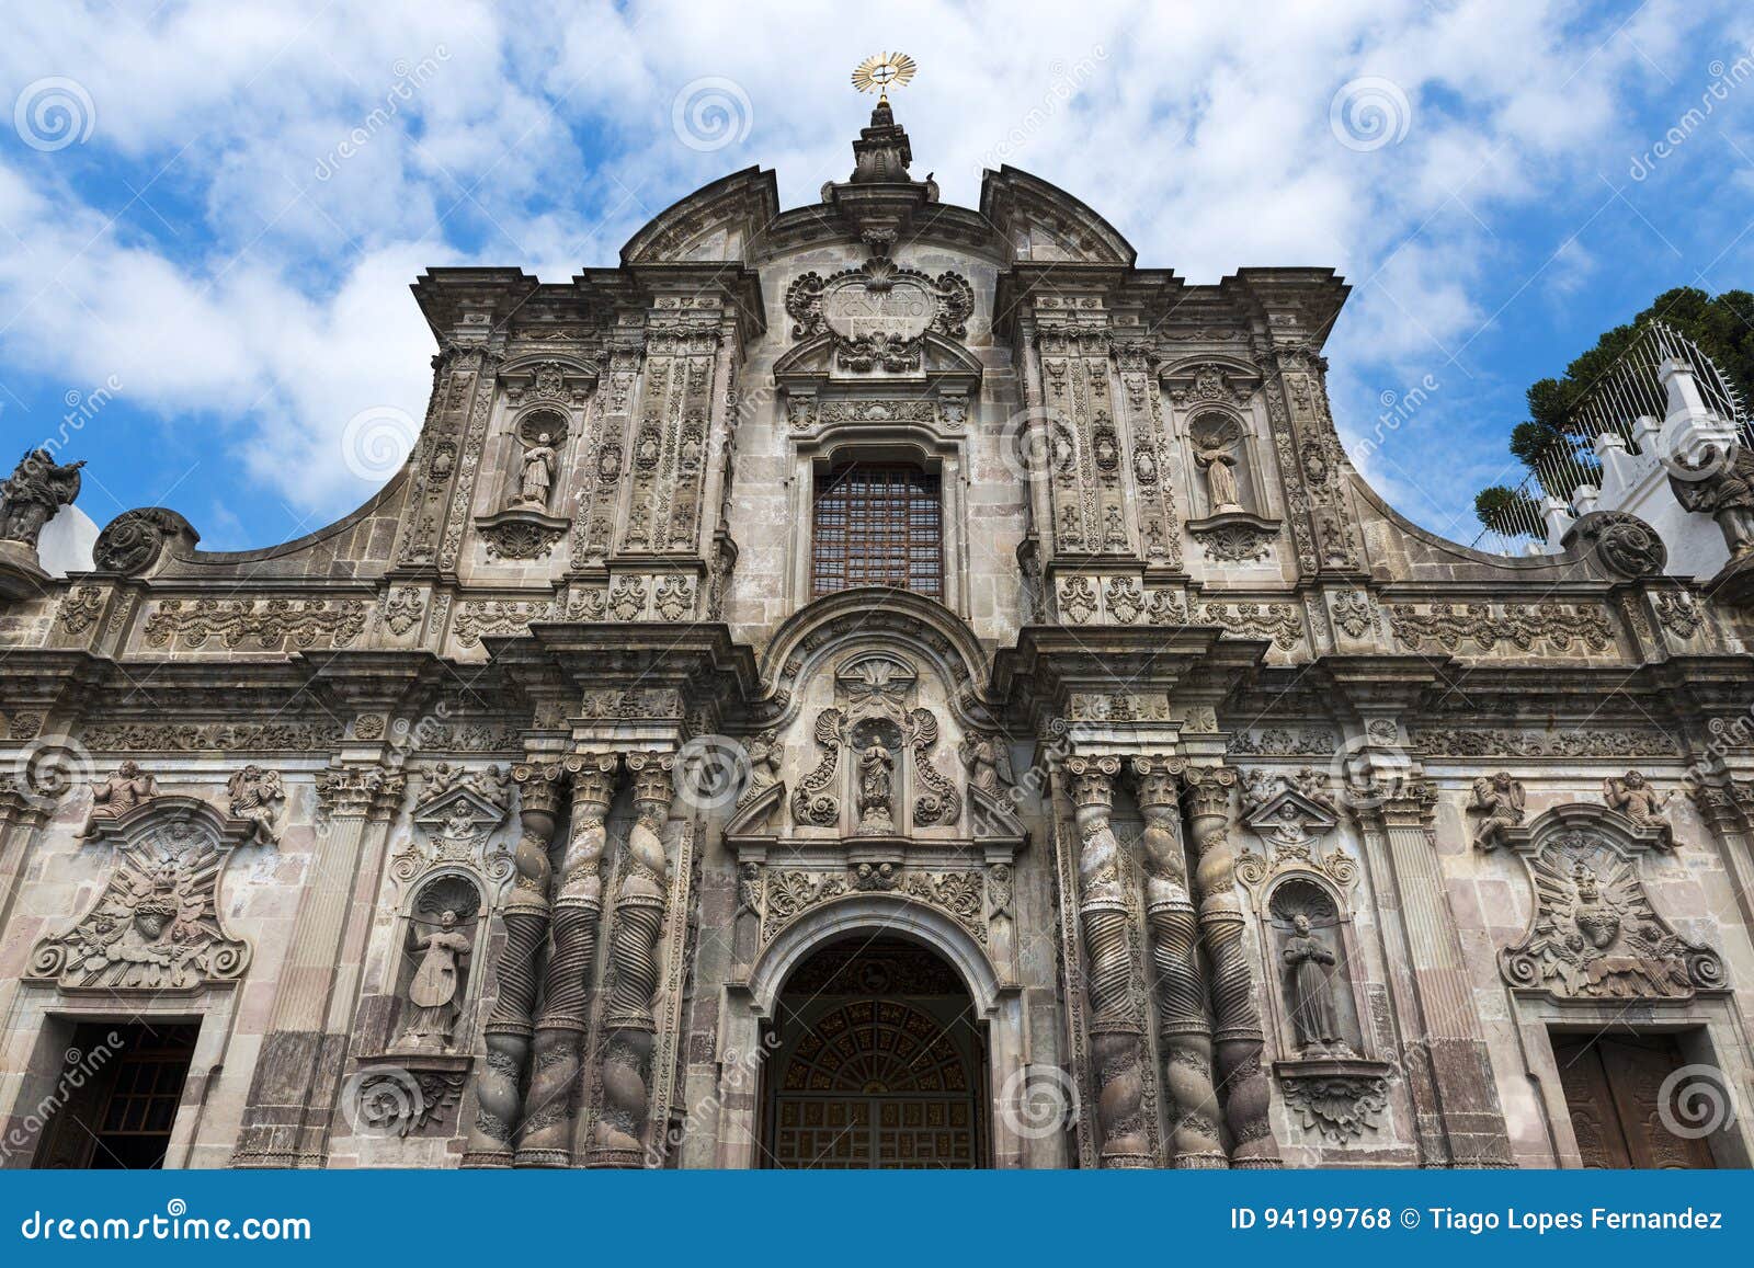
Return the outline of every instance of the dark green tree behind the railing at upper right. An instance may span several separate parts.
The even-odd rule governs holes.
[[[1563,379],[1542,379],[1528,389],[1529,417],[1510,430],[1510,452],[1537,481],[1544,458],[1568,456],[1586,472],[1594,468],[1593,435],[1575,417],[1614,363],[1626,353],[1638,331],[1652,321],[1665,321],[1698,344],[1731,386],[1747,400],[1754,388],[1754,295],[1724,291],[1707,295],[1696,286],[1677,286],[1663,291],[1631,323],[1601,335],[1596,345],[1565,368]],[[1545,489],[1556,498],[1572,496],[1572,489]],[[1494,484],[1473,498],[1473,514],[1498,533],[1515,535],[1524,530],[1522,510],[1533,512],[1540,523],[1538,503],[1526,493],[1505,484]]]

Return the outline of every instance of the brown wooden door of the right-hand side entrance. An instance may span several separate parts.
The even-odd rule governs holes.
[[[1554,1036],[1552,1054],[1584,1166],[1715,1166],[1703,1140],[1677,1136],[1663,1122],[1663,1080],[1682,1065],[1673,1038]]]

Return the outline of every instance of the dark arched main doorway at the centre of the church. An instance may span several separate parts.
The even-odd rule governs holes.
[[[774,1010],[761,1159],[775,1168],[986,1166],[986,1044],[958,972],[926,947],[851,935]]]

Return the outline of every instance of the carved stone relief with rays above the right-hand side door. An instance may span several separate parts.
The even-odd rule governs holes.
[[[1498,952],[1510,986],[1554,1000],[1673,1000],[1724,987],[1717,952],[1670,930],[1633,859],[1601,833],[1568,828],[1519,852],[1535,914],[1522,940]]]

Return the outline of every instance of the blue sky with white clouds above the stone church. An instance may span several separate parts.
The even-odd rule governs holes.
[[[896,112],[951,202],[1012,163],[1194,282],[1340,268],[1342,435],[1463,540],[1533,379],[1670,286],[1754,289],[1749,5],[824,9],[14,12],[7,445],[70,431],[98,524],[170,505],[210,549],[310,531],[424,412],[424,267],[567,279],[751,163],[814,202],[870,105],[847,74],[888,47],[921,63]],[[361,456],[361,428],[388,447]]]

